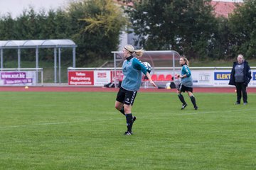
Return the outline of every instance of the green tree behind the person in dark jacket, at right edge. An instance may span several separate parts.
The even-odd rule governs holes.
[[[243,54],[256,57],[256,0],[245,0],[230,16],[230,49],[232,57]]]

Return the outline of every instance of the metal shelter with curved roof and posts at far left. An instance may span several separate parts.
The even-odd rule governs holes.
[[[54,49],[54,82],[57,82],[57,49],[58,49],[58,67],[59,67],[59,82],[60,82],[60,58],[61,48],[73,48],[73,67],[75,67],[75,47],[78,45],[73,40],[0,40],[1,52],[1,69],[3,69],[4,49],[18,50],[18,69],[21,67],[21,49],[35,48],[36,49],[36,69],[38,69],[39,48],[53,48]]]

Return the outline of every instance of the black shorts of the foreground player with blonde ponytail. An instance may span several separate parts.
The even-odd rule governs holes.
[[[132,105],[134,103],[136,95],[137,91],[128,91],[120,87],[116,100],[127,105]]]

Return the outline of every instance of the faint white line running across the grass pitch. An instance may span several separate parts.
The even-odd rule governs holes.
[[[228,110],[228,111],[221,111],[222,113],[234,113],[234,112],[245,112],[245,111],[255,111],[255,109],[240,109],[240,110]],[[210,113],[219,113],[220,111],[207,111],[207,112],[200,112],[194,111],[193,113],[178,113],[175,115],[170,116],[183,116],[183,115],[200,115],[200,114],[210,114]],[[146,116],[140,116],[139,118],[146,119]],[[29,126],[43,126],[43,125],[68,125],[68,124],[75,124],[75,123],[86,123],[86,122],[102,122],[102,121],[109,121],[109,120],[123,120],[124,118],[108,118],[108,119],[95,119],[95,120],[80,120],[80,121],[73,121],[73,122],[53,122],[53,123],[36,123],[31,125],[0,125],[0,129],[6,128],[26,128]],[[165,118],[154,118],[154,119],[166,119]]]

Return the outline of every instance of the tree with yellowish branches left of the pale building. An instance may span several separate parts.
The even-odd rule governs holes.
[[[70,3],[68,13],[75,32],[73,40],[78,44],[78,64],[112,59],[110,52],[117,50],[126,23],[122,9],[112,0],[82,0]]]

